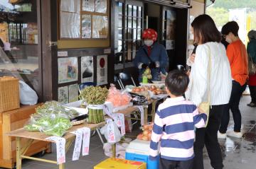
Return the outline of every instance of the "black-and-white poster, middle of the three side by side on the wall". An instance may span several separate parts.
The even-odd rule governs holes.
[[[93,57],[81,57],[81,82],[93,82]]]

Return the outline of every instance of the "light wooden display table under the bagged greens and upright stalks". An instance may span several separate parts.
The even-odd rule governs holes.
[[[63,136],[63,138],[65,138],[65,140],[66,140],[65,152],[68,151],[68,149],[70,148],[73,140],[75,139],[75,134],[71,134],[70,132],[73,132],[76,129],[80,129],[82,127],[88,127],[91,130],[94,130],[94,129],[97,129],[99,127],[103,127],[105,124],[106,124],[105,122],[102,122],[102,123],[99,123],[99,124],[83,123],[83,124],[73,126]],[[23,158],[30,159],[30,160],[33,160],[33,161],[43,161],[43,162],[46,162],[46,163],[57,164],[57,161],[49,161],[49,160],[46,160],[46,159],[34,158],[34,157],[30,157],[30,156],[25,155],[28,148],[33,146],[34,141],[44,141],[48,144],[55,143],[54,141],[50,141],[50,140],[46,139],[46,138],[49,137],[46,134],[43,134],[41,132],[28,132],[28,131],[26,131],[25,129],[22,128],[22,129],[17,129],[13,132],[9,132],[7,135],[8,136],[13,136],[13,137],[16,138],[16,147],[17,147],[16,148],[16,155],[17,155],[16,156],[16,168],[17,169],[21,169],[21,160]],[[28,141],[26,141],[26,143],[22,143],[21,138],[28,139]],[[65,163],[60,164],[59,168],[64,169],[65,168]]]

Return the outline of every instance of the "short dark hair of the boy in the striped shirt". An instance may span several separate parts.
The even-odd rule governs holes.
[[[188,75],[179,70],[170,71],[165,81],[166,87],[175,96],[183,95],[188,88],[188,83]]]

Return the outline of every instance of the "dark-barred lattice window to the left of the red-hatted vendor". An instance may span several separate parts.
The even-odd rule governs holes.
[[[125,6],[125,11],[122,11]],[[132,62],[137,49],[141,45],[142,34],[142,6],[124,4],[116,2],[118,8],[118,37],[115,37],[115,56],[117,57],[115,64],[123,62]],[[122,11],[122,13],[121,13]],[[124,27],[123,27],[124,18]],[[123,31],[124,30],[124,31]],[[122,57],[120,56],[122,55]],[[120,60],[121,59],[121,60]]]

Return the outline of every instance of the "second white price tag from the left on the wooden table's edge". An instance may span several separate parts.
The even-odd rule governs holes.
[[[75,134],[75,147],[73,151],[72,161],[77,161],[79,159],[82,146],[82,130],[78,129],[71,133]]]

